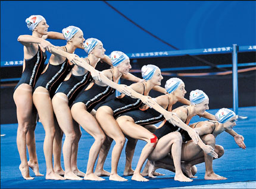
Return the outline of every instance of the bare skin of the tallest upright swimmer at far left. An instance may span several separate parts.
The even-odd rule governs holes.
[[[34,28],[32,36],[22,35],[18,41],[24,46],[24,60],[31,59],[38,52],[38,46],[45,51],[52,46],[45,39],[64,39],[61,33],[48,32],[49,25],[45,20]],[[23,71],[24,71],[23,64]],[[36,155],[35,127],[37,112],[33,107],[32,99],[33,88],[29,84],[21,84],[13,94],[14,102],[17,107],[17,148],[20,154],[21,164],[19,169],[24,179],[32,180],[29,175],[29,167],[33,169],[36,176],[43,176],[39,172],[38,157]],[[29,151],[29,161],[27,162],[26,146]]]

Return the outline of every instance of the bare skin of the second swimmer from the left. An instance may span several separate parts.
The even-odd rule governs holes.
[[[52,65],[60,65],[67,58],[71,63],[76,63],[74,50],[77,48],[83,48],[83,32],[79,30],[70,41],[66,44],[67,52],[64,56],[62,52],[65,51],[65,47],[58,47],[57,49],[54,47],[50,47],[50,52],[52,53],[49,63]],[[59,54],[59,53],[60,54]],[[45,68],[46,69],[46,68]],[[45,129],[45,141],[43,143],[43,152],[45,154],[46,161],[46,180],[65,180],[66,178],[61,177],[56,172],[54,172],[54,168],[52,165],[52,150],[53,150],[53,142],[55,136],[55,127],[56,121],[54,120],[54,111],[52,108],[52,101],[49,96],[48,89],[44,87],[38,87],[35,89],[33,93],[33,102],[38,110],[38,114],[40,117],[40,121],[43,124],[43,128]],[[71,174],[71,176],[70,176]],[[68,173],[67,177],[77,177],[72,173]]]

